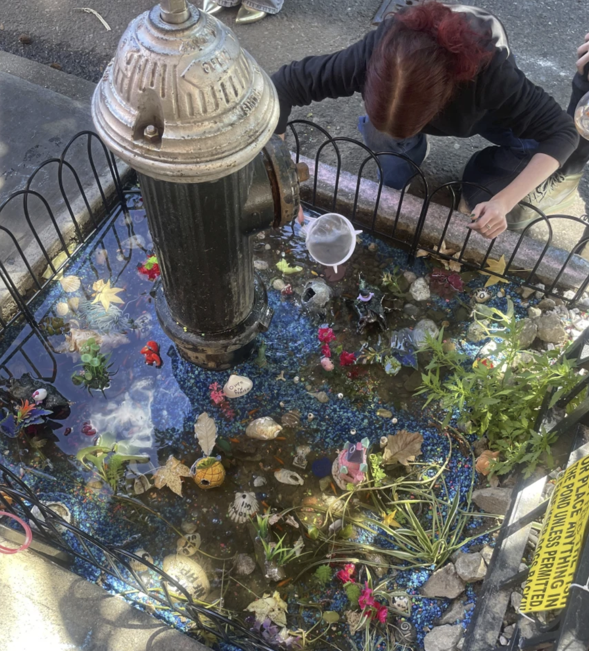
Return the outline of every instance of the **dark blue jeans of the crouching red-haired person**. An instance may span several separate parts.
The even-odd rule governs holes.
[[[404,154],[417,165],[420,165],[425,158],[427,137],[424,133],[418,133],[404,140],[396,140],[386,133],[377,131],[366,115],[359,119],[358,128],[364,143],[374,152]],[[464,186],[463,198],[470,209],[481,201],[487,201],[508,186],[530,162],[538,148],[535,140],[517,138],[510,129],[503,130],[480,125],[478,133],[489,143],[493,143],[493,146],[486,147],[471,156],[464,168],[462,180],[486,187],[489,192]],[[378,158],[383,169],[385,186],[401,189],[415,174],[415,168],[401,158],[396,156]]]

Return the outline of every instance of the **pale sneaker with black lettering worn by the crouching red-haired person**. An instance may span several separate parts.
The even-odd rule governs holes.
[[[545,215],[566,214],[566,210],[579,197],[577,189],[582,172],[565,176],[555,172],[541,183],[533,192],[530,192],[522,201],[539,208]],[[515,206],[507,215],[510,230],[521,229],[530,221],[539,217],[538,213],[527,206]]]

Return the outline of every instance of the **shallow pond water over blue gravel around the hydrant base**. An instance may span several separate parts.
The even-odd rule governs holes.
[[[269,331],[260,335],[253,359],[232,371],[251,380],[251,391],[238,398],[223,398],[219,390],[230,372],[211,372],[185,362],[159,326],[152,298],[154,281],[150,279],[156,271],[150,274],[138,270],[138,266],[143,266],[144,271],[149,271],[145,266],[150,266],[152,242],[141,199],[139,195],[133,196],[128,215],[118,215],[70,264],[64,272],[65,279],[53,281],[42,296],[36,318],[44,328],[49,345],[44,347],[40,339],[31,339],[27,326],[6,351],[2,363],[5,376],[20,378],[25,372],[32,372],[33,363],[38,375],[49,378],[70,402],[71,412],[65,419],[53,422],[51,436],[44,430],[37,437],[41,442],[33,441],[38,446],[36,449],[27,445],[22,436],[0,436],[3,465],[18,472],[40,499],[66,505],[73,523],[84,531],[129,551],[145,550],[158,566],[164,557],[179,549],[182,533],[198,533],[200,548],[192,558],[204,568],[210,581],[205,602],[218,607],[223,596],[223,607],[241,616],[248,614],[244,609],[249,603],[264,592],[273,592],[276,584],[269,583],[260,568],[249,575],[233,574],[232,579],[228,578],[228,568],[235,555],[247,553],[253,558],[255,551],[247,523],[234,521],[230,506],[244,493],[251,493],[251,500],[258,505],[260,513],[305,506],[307,511],[302,515],[296,512],[299,520],[295,526],[286,521],[286,516],[275,525],[275,534],[286,535],[289,547],[294,546],[309,525],[307,518],[321,524],[325,508],[344,492],[331,477],[331,464],[344,450],[346,441],[358,443],[366,437],[379,450],[378,442],[383,436],[396,435],[401,430],[418,432],[423,437],[418,461],[447,463],[448,498],[454,499],[458,492],[461,508],[465,508],[472,486],[472,458],[464,456],[454,445],[448,459],[450,438],[432,423],[439,419],[439,414],[431,408],[422,408],[423,396],[413,396],[420,383],[420,371],[404,366],[392,375],[387,373],[390,368],[386,369],[385,365],[361,363],[361,357],[368,346],[381,345],[390,339],[391,331],[412,328],[420,318],[430,318],[437,326],[444,326],[448,341],[452,340],[459,350],[474,357],[482,344],[469,344],[465,340],[470,323],[467,294],[459,294],[458,299],[445,299],[432,293],[429,299],[407,312],[404,311],[407,301],[382,285],[383,274],[394,273],[397,267],[400,271],[407,270],[406,253],[362,234],[355,253],[336,275],[310,259],[298,226],[261,234],[254,238],[256,268],[266,283],[274,318]],[[297,266],[300,270],[290,273]],[[429,268],[419,258],[410,271],[421,277]],[[359,272],[368,284],[368,292],[374,288],[384,292],[383,305],[390,310],[385,314],[387,332],[380,331],[377,324],[367,326],[364,333],[357,332],[358,315],[353,306],[359,295]],[[333,294],[325,311],[305,309],[301,298],[318,299],[318,292],[322,291],[315,286],[309,288],[307,283],[322,280]],[[472,290],[481,287],[486,278],[463,274],[463,280]],[[109,283],[106,288],[105,283]],[[407,281],[401,277],[399,283],[406,292]],[[506,309],[506,297],[511,296],[517,312],[523,315],[525,310],[519,305],[521,299],[515,287],[501,284],[500,288],[504,297],[495,296],[495,286],[491,288],[495,298],[489,304]],[[115,310],[109,306],[108,318],[100,301],[92,303],[97,294],[98,298],[110,299],[110,306],[115,306]],[[335,339],[327,344],[320,341],[320,327],[331,327]],[[84,352],[88,330],[94,331],[94,341],[89,344],[89,352]],[[148,342],[156,342],[159,351],[157,348],[146,351],[144,347],[151,345]],[[109,372],[113,375],[103,391],[96,388],[100,381],[94,382],[90,390],[85,385],[83,374],[94,363],[91,360],[98,361],[95,370],[102,368],[101,364],[104,366],[102,358],[94,357],[98,348],[92,349],[92,343],[100,346],[100,355],[110,355]],[[325,370],[324,367],[331,365],[321,363],[325,345],[331,353],[333,370]],[[142,350],[155,351],[161,358],[161,366],[156,358],[154,365],[147,365]],[[324,349],[323,355],[326,352]],[[354,353],[355,362],[350,355],[346,359],[346,353]],[[89,357],[84,358],[88,361],[81,366],[84,354]],[[86,380],[91,385],[92,382]],[[221,457],[225,481],[217,488],[202,490],[193,478],[180,478],[178,467],[175,471],[172,467],[176,462],[172,462],[168,485],[156,488],[154,472],[166,466],[171,456],[186,469],[203,456],[195,440],[195,421],[203,412],[208,413],[217,427],[217,447],[212,454]],[[265,441],[245,435],[247,426],[261,417],[270,417],[281,424],[279,436]],[[115,442],[119,452],[139,457],[123,464],[115,474],[111,483],[116,486],[116,493],[107,481],[112,475],[101,476],[81,452],[92,445],[112,448]],[[308,448],[303,450],[305,467],[294,465],[295,456],[300,454],[297,447]],[[298,473],[303,485],[279,482],[275,472],[281,470]],[[160,471],[158,477],[162,475]],[[181,487],[182,495],[172,492],[171,485]],[[136,503],[124,499],[126,495]],[[361,508],[364,498],[358,499],[356,506]],[[431,520],[431,514],[425,517]],[[473,517],[463,535],[469,536],[482,525],[482,518]],[[309,546],[308,550],[312,549],[313,541],[308,536],[302,540]],[[473,542],[483,544],[489,540],[489,536],[483,536]],[[351,543],[354,542],[394,548],[383,531],[371,534],[366,529],[355,529],[351,536]],[[321,560],[309,556],[307,560]],[[324,562],[330,561],[327,558]],[[396,564],[403,563],[397,560]],[[346,648],[343,639],[349,634],[344,611],[349,609],[349,603],[342,581],[335,576],[342,566],[342,561],[333,564],[333,577],[319,587],[311,577],[314,568],[299,576],[300,565],[286,566],[279,591],[289,604],[288,626],[292,630],[308,629],[318,621],[317,609],[309,604],[319,604],[323,611],[339,613],[340,622],[328,622],[315,632],[324,630],[324,639]],[[448,600],[419,596],[419,589],[432,569],[385,566],[379,571],[378,580],[386,589],[411,597],[405,606],[407,619],[417,631],[416,648],[422,643],[427,627],[448,604]],[[82,561],[75,562],[74,570],[113,592],[125,588]],[[141,595],[128,596],[135,603],[144,601]],[[468,586],[467,602],[474,603],[475,599],[475,590]],[[150,611],[154,611],[153,607]],[[170,611],[158,609],[157,615],[180,628],[189,628],[188,622]],[[463,626],[467,626],[469,615]],[[390,622],[398,624],[401,620],[399,609],[389,613]]]

